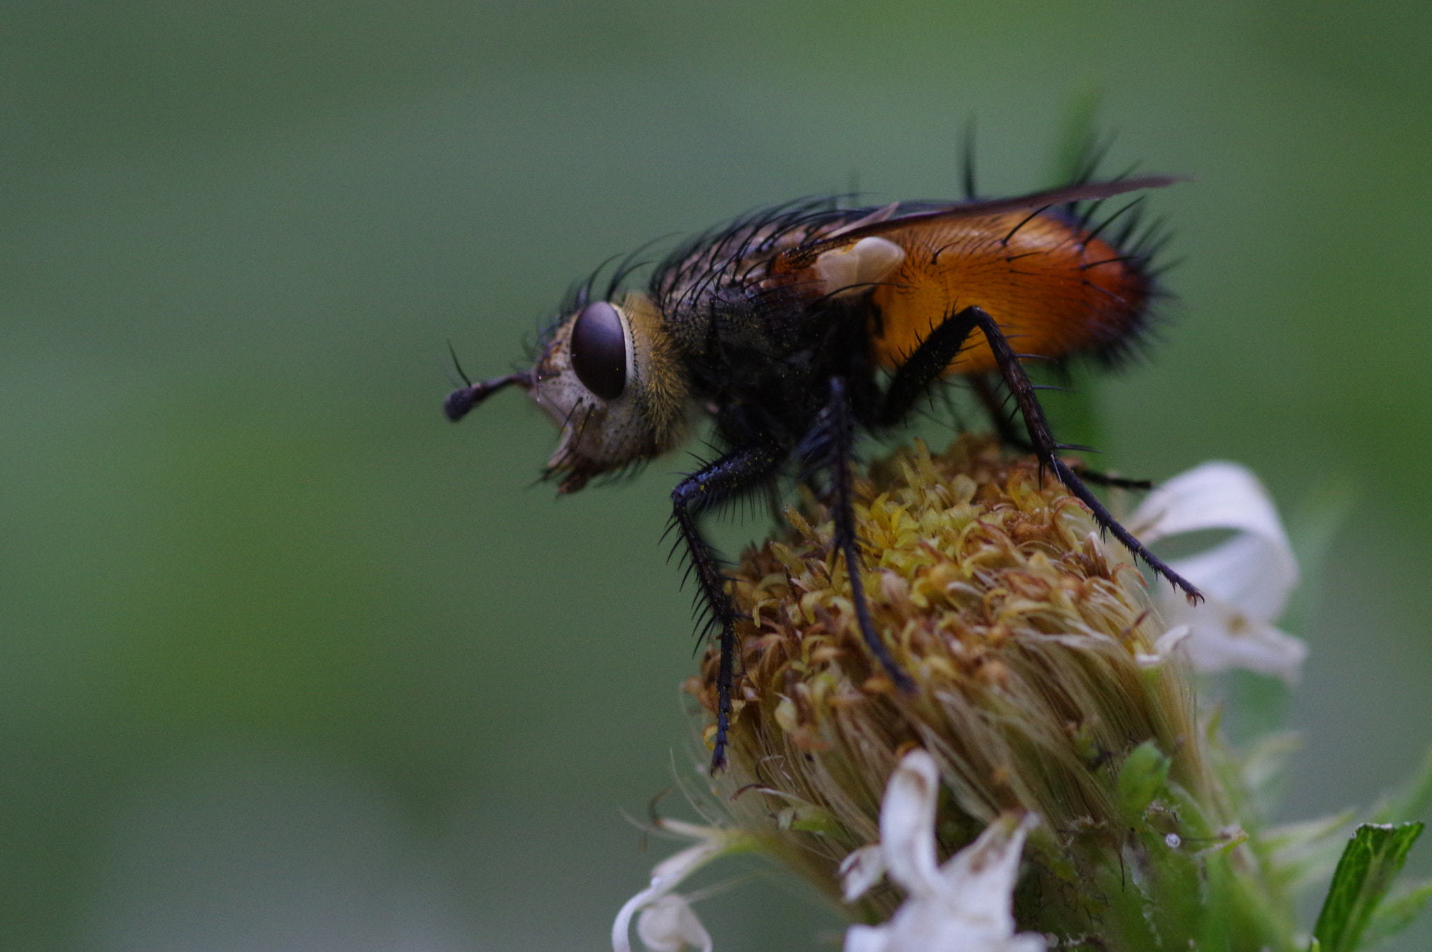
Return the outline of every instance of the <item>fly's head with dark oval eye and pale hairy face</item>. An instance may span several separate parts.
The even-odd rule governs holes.
[[[561,427],[547,461],[561,492],[674,448],[692,408],[662,315],[634,292],[563,319],[544,342],[528,394]]]

